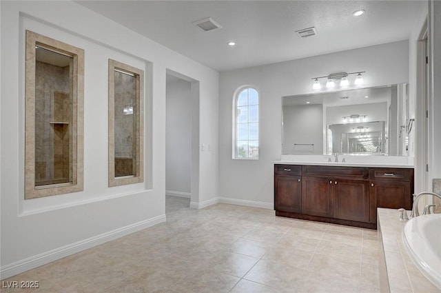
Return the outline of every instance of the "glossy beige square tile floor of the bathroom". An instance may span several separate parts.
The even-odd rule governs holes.
[[[167,223],[5,281],[23,292],[380,292],[374,230],[167,196]],[[18,293],[18,289],[3,289]]]

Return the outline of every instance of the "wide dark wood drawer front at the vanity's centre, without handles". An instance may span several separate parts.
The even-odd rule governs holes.
[[[365,167],[303,165],[302,174],[304,176],[331,176],[333,178],[369,178],[368,168]]]

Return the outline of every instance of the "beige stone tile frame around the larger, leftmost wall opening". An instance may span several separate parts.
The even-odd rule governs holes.
[[[84,50],[25,30],[25,200],[83,191]],[[36,185],[35,100],[36,46],[72,58],[72,174],[67,183]]]

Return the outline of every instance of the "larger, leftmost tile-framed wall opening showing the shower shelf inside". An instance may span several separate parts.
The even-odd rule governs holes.
[[[84,51],[26,31],[25,199],[83,190]]]

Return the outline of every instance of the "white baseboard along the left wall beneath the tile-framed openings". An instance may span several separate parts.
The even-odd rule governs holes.
[[[2,267],[0,267],[1,279],[7,279],[10,276],[15,276],[16,274],[20,274],[27,270],[31,270],[35,267],[45,265],[46,263],[50,263],[52,261],[57,261],[57,259],[62,259],[65,256],[70,256],[77,252],[87,250],[96,245],[100,245],[108,241],[121,238],[125,235],[138,232],[140,230],[152,227],[153,225],[156,225],[158,223],[163,223],[165,221],[166,221],[165,214],[163,214],[161,216],[156,216],[152,219],[147,219],[145,221],[134,223],[132,225],[127,225],[125,227],[112,230],[110,232],[105,232],[103,234],[99,234],[90,237],[88,239],[84,239],[82,241],[65,245],[63,247],[50,250],[48,252],[43,252],[41,254],[30,256],[27,259],[16,261],[15,263],[3,265]]]

